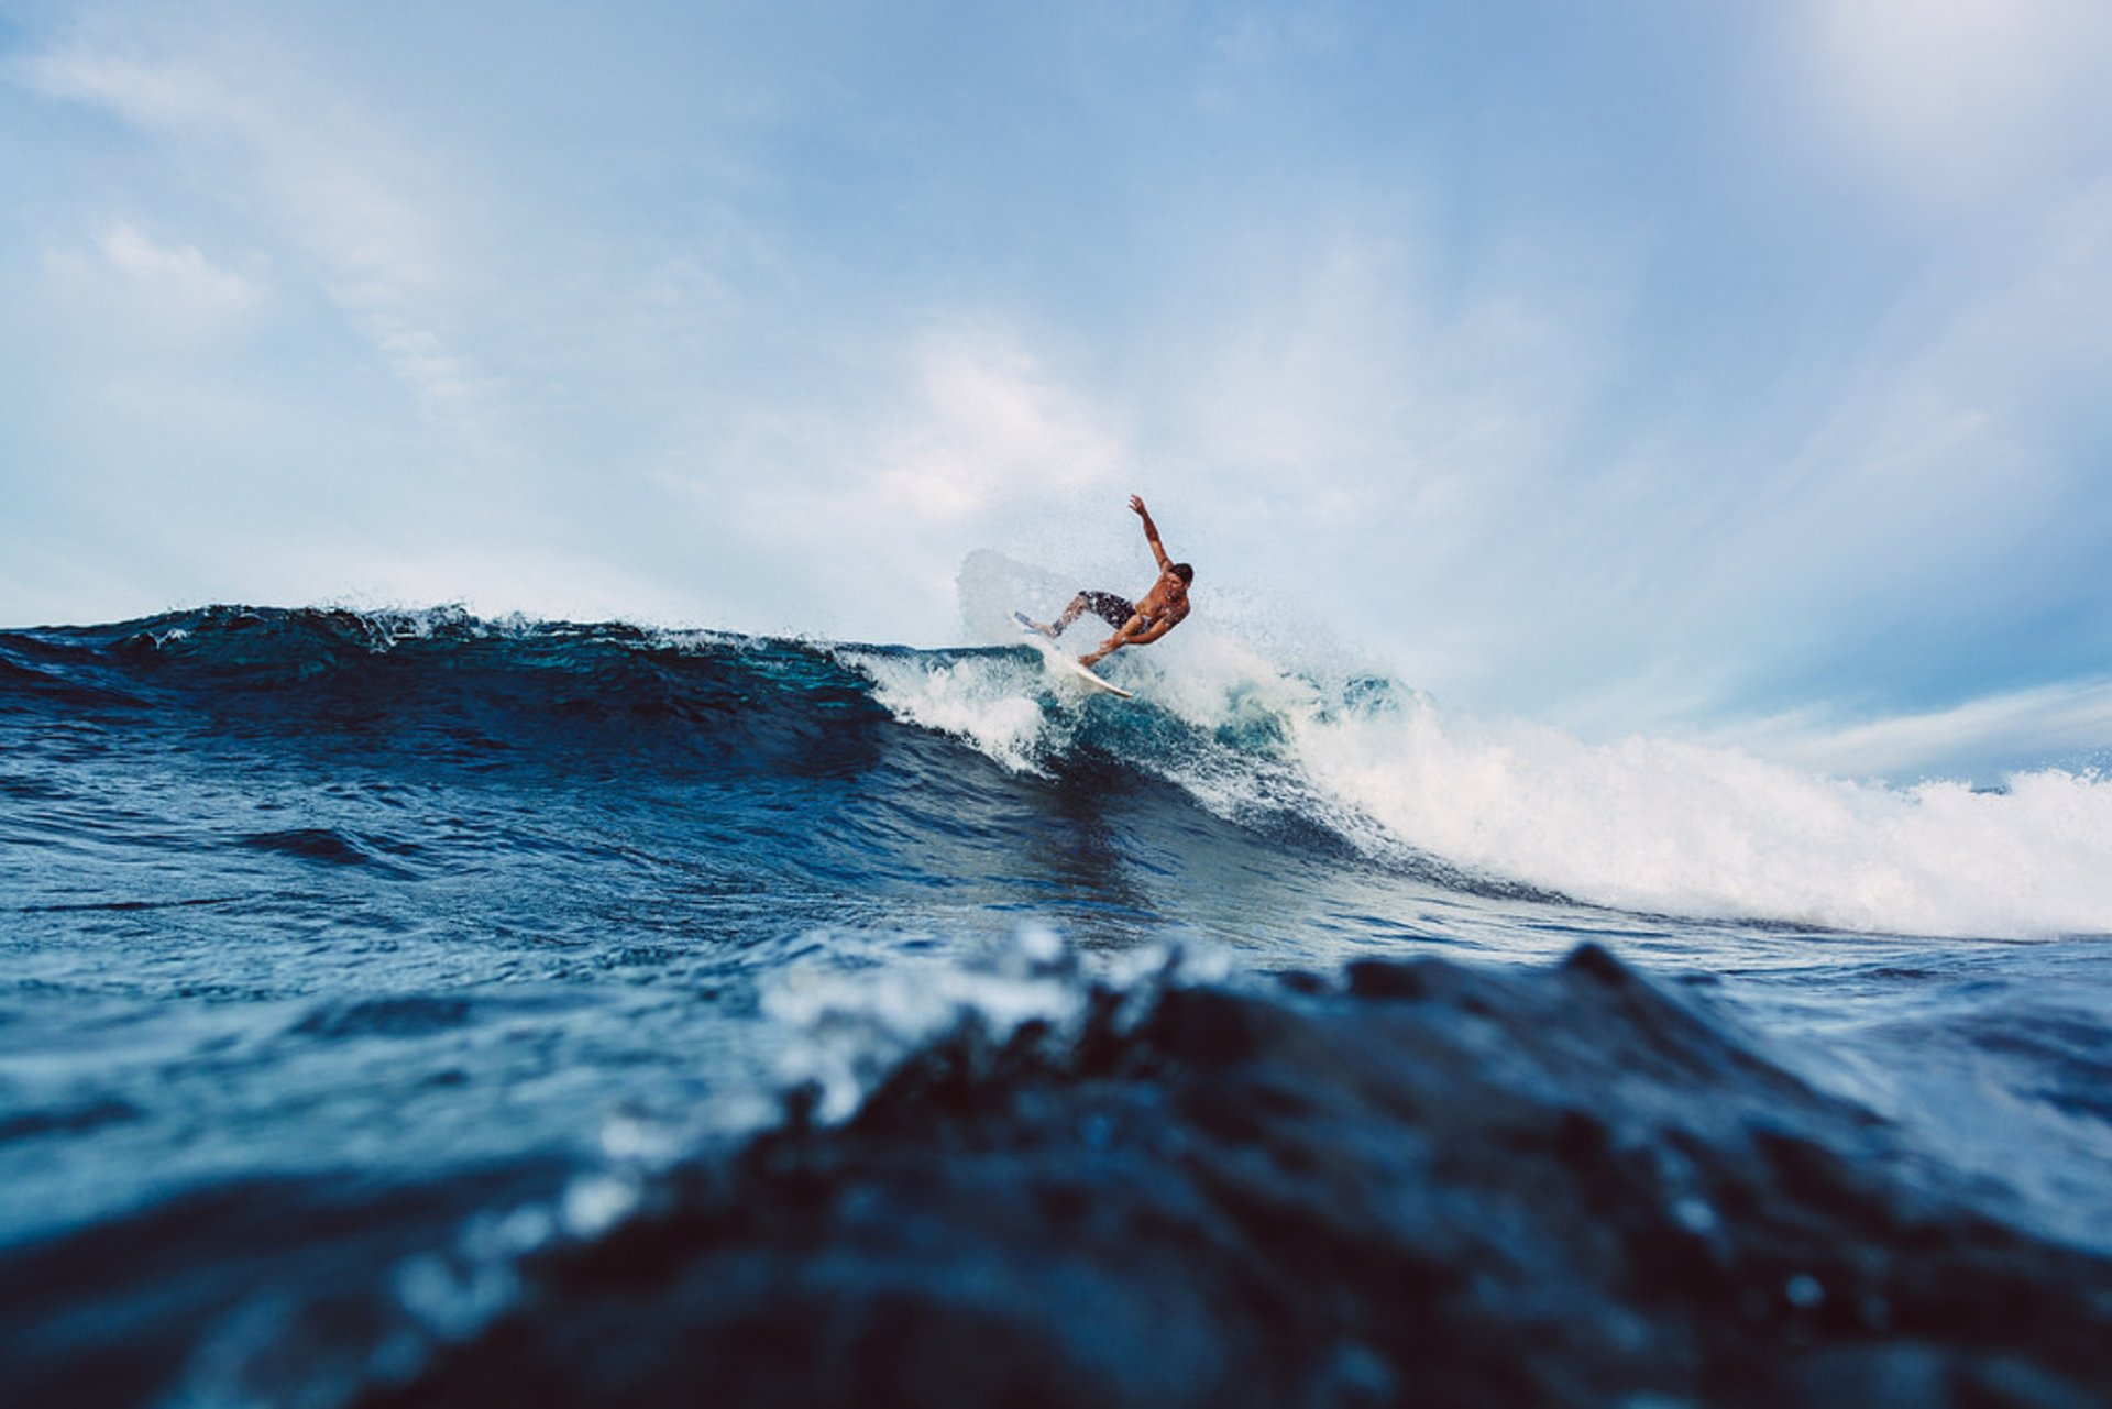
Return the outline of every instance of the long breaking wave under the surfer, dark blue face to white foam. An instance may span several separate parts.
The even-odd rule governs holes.
[[[1016,644],[213,606],[0,634],[0,708],[190,710],[289,741],[410,731],[465,767],[646,773],[838,771],[906,729],[1020,779],[1174,784],[1242,826],[1326,832],[1470,889],[1863,932],[2112,929],[2112,782],[2093,773],[1888,788],[1723,748],[1586,744],[1462,718],[1383,676],[1284,670],[1208,627],[1109,670],[1136,701],[1083,699]],[[957,765],[929,767],[953,786]]]

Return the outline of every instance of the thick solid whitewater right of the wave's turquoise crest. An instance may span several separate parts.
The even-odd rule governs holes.
[[[1428,701],[1295,733],[1322,790],[1409,845],[1578,900],[1909,934],[2112,929],[2112,784],[2091,775],[1888,788]]]

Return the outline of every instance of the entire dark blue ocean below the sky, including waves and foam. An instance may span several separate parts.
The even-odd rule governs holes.
[[[0,1396],[2112,1403],[2112,782],[984,638],[0,632]]]

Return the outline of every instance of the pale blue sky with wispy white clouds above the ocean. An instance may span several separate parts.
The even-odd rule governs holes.
[[[0,621],[955,644],[1140,490],[1464,708],[2087,752],[2106,15],[0,0]]]

